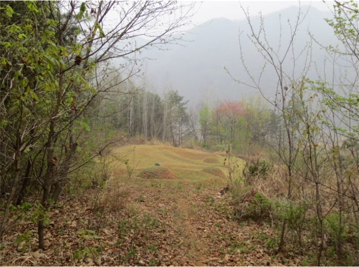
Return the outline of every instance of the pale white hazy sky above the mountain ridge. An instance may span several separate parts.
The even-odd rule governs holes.
[[[269,14],[290,6],[298,6],[298,1],[241,1],[243,7],[249,7],[252,16],[262,11],[262,14]],[[329,11],[328,7],[333,6],[333,1],[301,1],[301,5],[311,5],[322,11]],[[229,19],[243,19],[244,14],[240,7],[240,1],[205,1],[198,12],[192,18],[194,24],[201,24],[207,20],[217,17]]]

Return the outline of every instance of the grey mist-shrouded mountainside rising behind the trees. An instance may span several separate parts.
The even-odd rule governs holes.
[[[303,17],[309,6],[303,6]],[[297,7],[290,7],[264,16],[264,26],[269,45],[277,50],[281,44],[282,56],[289,43],[290,27],[294,25],[298,15]],[[284,67],[288,75],[294,78],[301,77],[303,68],[308,70],[306,76],[316,80],[317,71],[324,74],[325,50],[315,42],[311,45],[311,51],[303,49],[310,46],[310,32],[323,46],[336,45],[332,28],[324,20],[331,18],[332,14],[319,11],[311,7],[299,26],[299,31],[294,39],[294,57],[289,51]],[[280,24],[281,22],[281,24]],[[251,16],[251,23],[255,32],[260,29],[260,17]],[[281,33],[282,27],[282,33]],[[249,34],[247,20],[234,21],[226,18],[216,18],[199,25],[183,35],[188,42],[180,45],[164,46],[167,51],[151,49],[141,53],[142,57],[148,57],[144,63],[146,77],[155,85],[157,92],[162,92],[164,79],[171,84],[172,90],[178,90],[185,99],[196,102],[203,98],[210,99],[241,99],[243,94],[257,93],[257,90],[237,83],[233,78],[252,84],[241,61],[240,42],[238,33],[241,34],[243,59],[254,77],[258,77],[264,66],[263,56],[247,37]],[[303,51],[302,55],[301,52]],[[298,57],[299,56],[299,57]],[[295,68],[293,64],[295,59]],[[311,61],[311,66],[308,63]],[[306,63],[306,64],[305,64]],[[233,78],[224,69],[226,67]],[[262,75],[261,87],[267,96],[275,92],[277,79],[271,66],[267,66]]]

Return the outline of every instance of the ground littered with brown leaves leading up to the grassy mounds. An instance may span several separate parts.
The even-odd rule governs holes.
[[[203,152],[196,152],[202,155],[198,157],[186,153],[190,151],[175,153],[175,162],[170,162],[167,155],[169,161],[163,164],[178,179],[136,177],[141,167],[149,165],[140,161],[128,181],[119,174],[122,172],[113,172],[101,195],[94,188],[62,208],[52,208],[48,212],[45,251],[36,249],[36,225],[27,220],[17,222],[4,236],[0,263],[89,266],[301,263],[300,256],[271,255],[270,241],[274,236],[270,225],[231,220],[231,197],[221,193],[227,180],[202,171],[204,165],[211,164],[203,163],[206,158]],[[222,157],[217,157],[222,161]],[[181,158],[187,161],[181,163]],[[64,197],[60,202],[65,201]],[[26,238],[15,242],[24,233]]]

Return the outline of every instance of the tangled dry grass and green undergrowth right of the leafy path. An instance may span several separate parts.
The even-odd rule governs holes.
[[[229,173],[228,184],[233,208],[231,218],[238,223],[271,225],[276,237],[264,238],[263,244],[273,256],[278,255],[282,223],[285,221],[286,246],[280,254],[285,257],[304,255],[302,264],[315,264],[316,254],[311,253],[315,252],[313,244],[318,231],[315,201],[301,197],[303,191],[298,191],[288,199],[283,172],[266,160],[257,158],[247,162],[244,170],[240,172],[228,148],[225,166]],[[336,209],[326,212],[328,215],[323,219],[322,262],[330,265],[357,265],[359,239],[354,215],[342,213],[340,216]],[[341,221],[343,219],[345,221]]]

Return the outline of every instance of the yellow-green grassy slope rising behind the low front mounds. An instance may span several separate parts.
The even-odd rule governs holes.
[[[209,174],[203,171],[205,167],[217,167],[225,174],[228,173],[227,168],[223,165],[225,157],[214,153],[151,145],[137,145],[117,148],[113,154],[121,158],[129,159],[129,164],[135,167],[134,175],[137,175],[143,169],[154,166],[159,162],[161,166],[172,170],[182,182],[206,182],[209,184],[224,184],[226,179]],[[204,161],[217,163],[206,163]],[[244,166],[242,159],[237,159],[240,166]],[[123,169],[123,165],[114,162],[114,169]],[[136,178],[141,179],[141,178]]]

